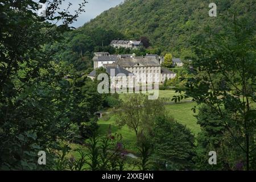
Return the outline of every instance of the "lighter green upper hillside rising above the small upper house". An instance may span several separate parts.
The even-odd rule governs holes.
[[[96,27],[121,32],[127,39],[147,36],[152,46],[180,51],[189,38],[213,22],[209,3],[202,0],[126,0],[86,23],[82,30]],[[229,9],[253,7],[253,0],[216,0],[217,18]],[[247,4],[247,5],[246,5]],[[248,6],[250,5],[250,6]],[[248,10],[250,11],[250,10]],[[218,26],[218,25],[217,25]]]

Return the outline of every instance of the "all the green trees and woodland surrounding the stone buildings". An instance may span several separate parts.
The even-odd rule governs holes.
[[[216,0],[217,17],[209,17],[206,1],[126,0],[76,30],[70,24],[85,1],[71,15],[53,0],[46,17],[34,1],[0,2],[1,170],[256,170],[255,1]],[[143,40],[144,48],[114,49],[113,39]],[[198,104],[200,133],[175,121],[161,99],[99,94],[86,76],[95,51],[192,60],[163,89],[179,93],[174,102]],[[98,134],[96,111],[115,108],[117,125],[136,134],[136,160],[111,126]],[[79,157],[72,144],[82,147]]]

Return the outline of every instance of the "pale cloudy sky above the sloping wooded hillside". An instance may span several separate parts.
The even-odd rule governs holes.
[[[123,2],[123,0],[86,0],[85,12],[79,15],[77,22],[73,23],[73,27],[80,27],[84,25],[84,23],[88,22],[90,19],[96,18],[97,15],[100,15],[103,11],[110,9],[111,7],[115,7],[119,5],[119,3]],[[72,10],[76,10],[78,7],[78,3],[81,0],[72,0],[63,3],[63,7],[68,5],[68,2],[72,3]],[[72,11],[71,11],[72,12]]]

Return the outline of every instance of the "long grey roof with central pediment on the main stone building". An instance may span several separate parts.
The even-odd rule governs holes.
[[[123,58],[114,63],[119,67],[129,68],[136,65],[143,67],[160,67],[159,61],[155,57],[135,57],[135,58]]]

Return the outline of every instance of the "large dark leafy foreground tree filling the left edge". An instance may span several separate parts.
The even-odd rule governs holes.
[[[48,3],[38,16],[34,1],[3,1],[0,5],[0,169],[49,169],[38,166],[37,154],[58,146],[70,129],[67,74],[54,62],[52,45],[61,39],[75,15]],[[57,10],[57,11],[56,11]],[[56,26],[49,21],[63,21]],[[71,71],[72,72],[72,71]],[[51,162],[49,161],[49,164]]]

